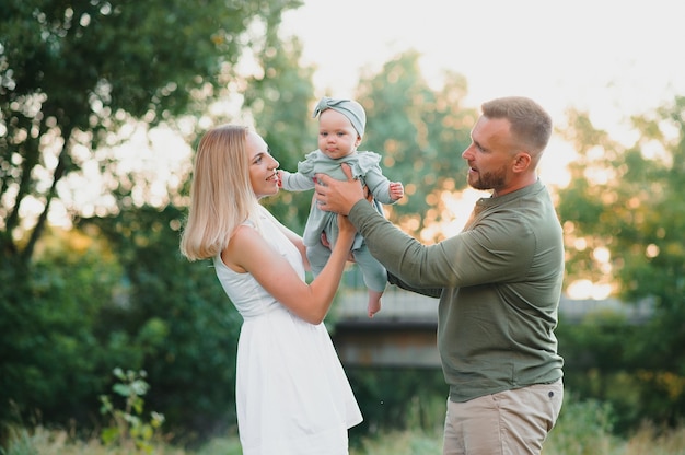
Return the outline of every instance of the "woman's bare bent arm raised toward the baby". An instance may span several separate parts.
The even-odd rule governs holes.
[[[221,258],[234,270],[252,273],[269,294],[299,317],[320,324],[330,308],[355,238],[355,228],[346,217],[338,215],[338,224],[340,233],[330,258],[310,284],[302,281],[288,260],[247,225],[237,228]]]

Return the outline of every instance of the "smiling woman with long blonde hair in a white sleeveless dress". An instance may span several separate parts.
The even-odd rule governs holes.
[[[264,139],[246,127],[208,131],[195,158],[181,250],[189,260],[213,260],[244,319],[235,393],[243,454],[347,454],[347,430],[362,418],[323,319],[356,232],[338,217],[330,259],[307,284],[302,238],[258,203],[278,192],[277,168]]]

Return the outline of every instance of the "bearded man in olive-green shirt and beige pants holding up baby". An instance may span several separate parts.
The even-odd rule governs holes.
[[[450,386],[443,454],[539,454],[564,397],[554,335],[562,231],[536,173],[552,119],[525,97],[481,107],[462,158],[468,184],[491,197],[476,202],[458,235],[420,244],[351,178],[318,175],[316,199],[349,217],[391,282],[440,296],[438,348]]]

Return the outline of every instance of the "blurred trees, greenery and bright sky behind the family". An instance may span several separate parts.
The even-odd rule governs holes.
[[[241,318],[211,265],[178,253],[208,128],[249,125],[293,171],[316,148],[316,101],[358,100],[368,115],[360,149],[379,152],[406,188],[387,218],[434,243],[484,196],[466,188],[461,158],[480,103],[524,95],[555,121],[541,178],[567,253],[557,329],[567,404],[548,453],[609,453],[607,441],[635,446],[646,433],[652,447],[675,434],[662,453],[683,453],[677,9],[3,0],[0,452],[36,453],[40,429],[47,440],[57,431],[156,453],[235,445]],[[302,232],[311,197],[281,191],[265,205]],[[448,390],[436,302],[390,288],[373,320],[363,302],[350,267],[326,325],[364,413],[352,447],[382,454],[364,447],[393,434],[410,443],[388,453],[439,453]],[[217,453],[240,453],[228,445]]]

